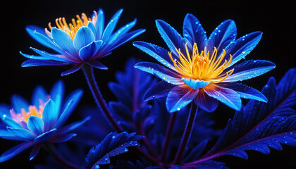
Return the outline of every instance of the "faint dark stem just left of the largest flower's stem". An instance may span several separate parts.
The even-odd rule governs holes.
[[[161,161],[162,162],[166,161],[166,152],[168,151],[168,146],[171,141],[171,135],[173,133],[173,125],[175,124],[175,118],[177,118],[177,113],[178,113],[178,111],[171,113],[170,120],[168,121],[168,127],[166,128],[166,137],[165,137],[164,142],[162,144],[163,149],[161,150]]]

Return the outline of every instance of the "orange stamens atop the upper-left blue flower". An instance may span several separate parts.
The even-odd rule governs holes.
[[[58,29],[63,30],[64,32],[68,33],[68,35],[70,35],[70,37],[72,39],[74,39],[76,32],[78,31],[78,29],[82,26],[87,26],[88,22],[92,22],[95,23],[97,20],[97,12],[94,11],[94,17],[91,18],[87,18],[87,15],[85,15],[85,13],[81,14],[81,18],[80,15],[76,15],[77,20],[75,20],[74,18],[72,18],[72,23],[67,23],[66,19],[63,18],[56,18],[56,27],[58,27]],[[49,30],[52,29],[51,23],[49,23]],[[47,30],[47,28],[45,28],[45,32],[47,32],[47,35],[49,37],[51,37],[51,32]]]

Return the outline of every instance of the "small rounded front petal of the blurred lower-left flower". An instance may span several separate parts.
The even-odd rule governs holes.
[[[42,134],[44,131],[44,122],[41,118],[35,115],[30,115],[27,119],[27,128],[35,135]]]

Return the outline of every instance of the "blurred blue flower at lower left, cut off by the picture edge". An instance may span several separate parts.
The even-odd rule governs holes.
[[[32,94],[32,103],[18,95],[11,97],[12,107],[1,105],[0,115],[6,129],[0,129],[3,139],[23,142],[4,152],[0,162],[13,158],[20,152],[32,148],[30,160],[39,152],[45,142],[66,142],[75,133],[69,133],[79,127],[89,118],[63,127],[73,109],[82,96],[82,90],[77,89],[63,101],[63,82],[58,81],[47,94],[43,87],[36,87]]]

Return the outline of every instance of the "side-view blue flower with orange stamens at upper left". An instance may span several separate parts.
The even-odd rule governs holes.
[[[85,13],[81,17],[76,15],[77,20],[72,19],[67,23],[65,18],[56,19],[56,27],[49,23],[49,30],[42,29],[35,25],[28,25],[28,34],[40,44],[53,49],[58,54],[49,54],[46,51],[32,48],[39,56],[22,54],[29,60],[23,62],[23,67],[38,65],[73,65],[73,68],[63,72],[61,75],[74,73],[82,68],[84,63],[92,65],[94,68],[108,69],[97,59],[111,54],[121,44],[130,41],[144,32],[144,29],[129,32],[135,26],[136,19],[127,25],[115,30],[116,24],[123,9],[117,11],[104,27],[104,11],[94,11],[91,18],[87,18]]]

